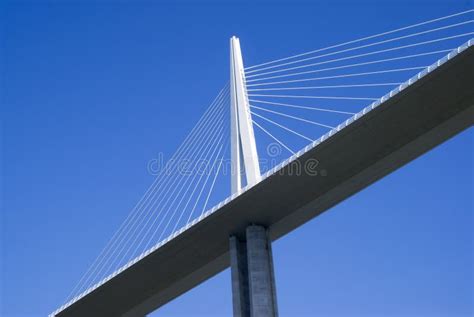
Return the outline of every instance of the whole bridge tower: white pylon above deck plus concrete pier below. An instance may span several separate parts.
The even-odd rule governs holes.
[[[237,37],[230,39],[231,191],[260,181],[245,70]],[[234,317],[278,316],[271,241],[267,228],[251,224],[229,239]]]

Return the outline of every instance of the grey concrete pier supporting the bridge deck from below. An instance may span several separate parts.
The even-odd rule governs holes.
[[[247,227],[245,239],[230,237],[234,317],[277,317],[271,242],[262,226]]]

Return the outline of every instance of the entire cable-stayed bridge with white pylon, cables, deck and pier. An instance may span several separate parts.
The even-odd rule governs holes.
[[[144,316],[229,266],[234,315],[278,315],[271,241],[472,126],[473,12],[248,67],[233,37],[229,83],[52,316]]]

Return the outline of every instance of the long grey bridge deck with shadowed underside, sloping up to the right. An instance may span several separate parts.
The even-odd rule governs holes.
[[[273,240],[473,124],[474,47],[436,67],[297,159],[326,176],[269,175],[54,316],[143,316],[229,266],[249,223]]]

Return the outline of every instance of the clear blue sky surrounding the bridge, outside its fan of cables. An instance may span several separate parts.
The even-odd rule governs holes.
[[[155,2],[155,3],[154,3]],[[228,78],[473,2],[2,1],[2,317],[59,304]],[[274,243],[281,316],[473,316],[472,128]],[[231,316],[229,271],[152,316]]]

